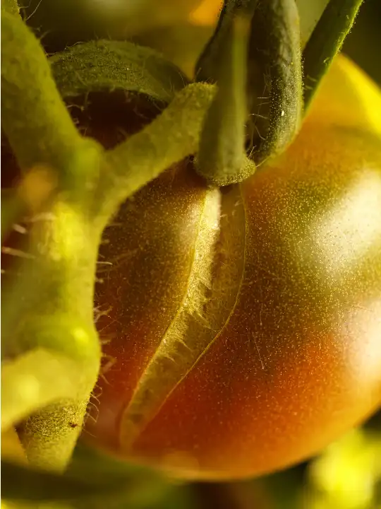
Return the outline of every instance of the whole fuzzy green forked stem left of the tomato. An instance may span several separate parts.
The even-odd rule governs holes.
[[[19,194],[31,211],[28,257],[3,293],[2,423],[28,416],[18,426],[28,461],[61,471],[99,373],[93,293],[102,230],[123,200],[197,151],[215,90],[184,88],[143,131],[106,152],[75,128],[16,2],[1,14],[2,127],[25,182],[34,182]]]

